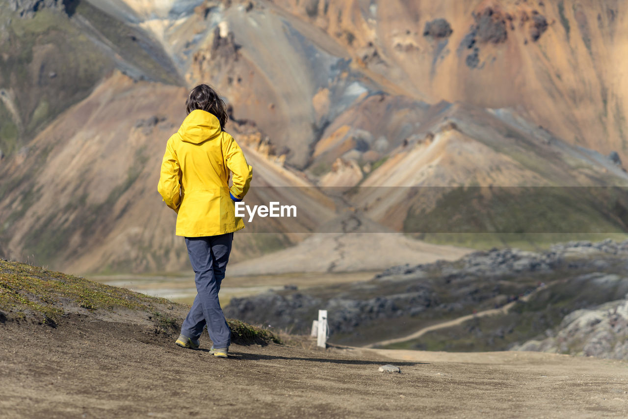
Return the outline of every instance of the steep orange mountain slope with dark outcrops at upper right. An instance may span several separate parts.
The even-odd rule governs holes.
[[[366,71],[435,103],[516,108],[572,144],[624,142],[621,1],[274,1],[340,43]]]

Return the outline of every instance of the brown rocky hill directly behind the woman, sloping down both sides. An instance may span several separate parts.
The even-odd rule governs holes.
[[[3,168],[8,179],[0,187],[6,205],[0,210],[1,246],[7,255],[30,255],[75,272],[186,266],[185,244],[173,235],[175,213],[156,192],[164,144],[183,118],[185,94],[181,87],[154,89],[151,82],[117,72],[38,135],[22,159],[9,160]],[[231,126],[239,138],[259,139],[246,126]],[[310,185],[303,177],[266,159],[254,143],[246,154],[263,199],[281,201],[283,187],[292,187],[291,198],[302,208],[300,231],[333,215],[333,202],[303,187]],[[277,188],[264,187],[268,182]],[[249,203],[259,203],[261,189],[252,189]],[[236,257],[291,243],[284,235],[295,231],[289,223],[267,228],[274,234],[241,239]]]

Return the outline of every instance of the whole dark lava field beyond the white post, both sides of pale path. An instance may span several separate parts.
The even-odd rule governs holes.
[[[506,350],[545,336],[574,310],[624,298],[628,292],[627,254],[628,242],[610,240],[555,245],[541,253],[494,249],[453,262],[393,267],[366,282],[234,298],[225,311],[244,320],[257,319],[265,325],[306,333],[318,310],[327,309],[332,342],[365,345],[512,303],[506,313],[472,317],[392,346]],[[570,315],[563,326],[574,319]],[[622,323],[614,324],[621,327]],[[558,345],[556,342],[563,340],[551,342]],[[534,345],[548,348],[552,344],[546,341],[524,347]]]

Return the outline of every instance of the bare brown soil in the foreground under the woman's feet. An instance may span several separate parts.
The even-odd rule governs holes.
[[[625,417],[628,364],[531,352],[234,345],[146,325],[0,323],[1,417]],[[396,359],[396,360],[394,360]],[[401,374],[377,371],[383,364]]]

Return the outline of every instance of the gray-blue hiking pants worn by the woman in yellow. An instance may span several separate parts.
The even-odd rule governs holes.
[[[225,277],[234,233],[208,237],[186,237],[190,262],[194,269],[197,296],[183,325],[181,335],[198,339],[207,325],[207,332],[215,348],[231,344],[231,330],[220,308],[218,291]]]

